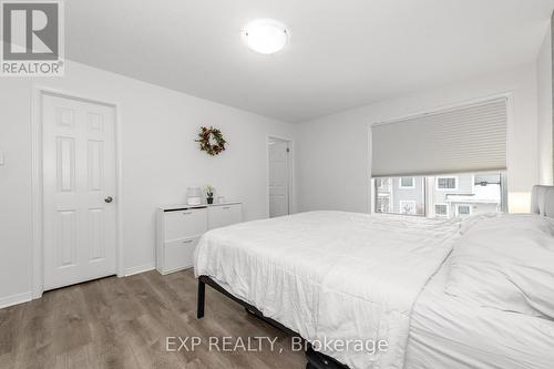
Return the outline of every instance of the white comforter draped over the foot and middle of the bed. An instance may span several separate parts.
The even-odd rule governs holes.
[[[321,349],[352,369],[402,368],[412,306],[458,230],[450,221],[302,213],[206,233],[195,274],[309,341],[387,340],[375,353]]]

